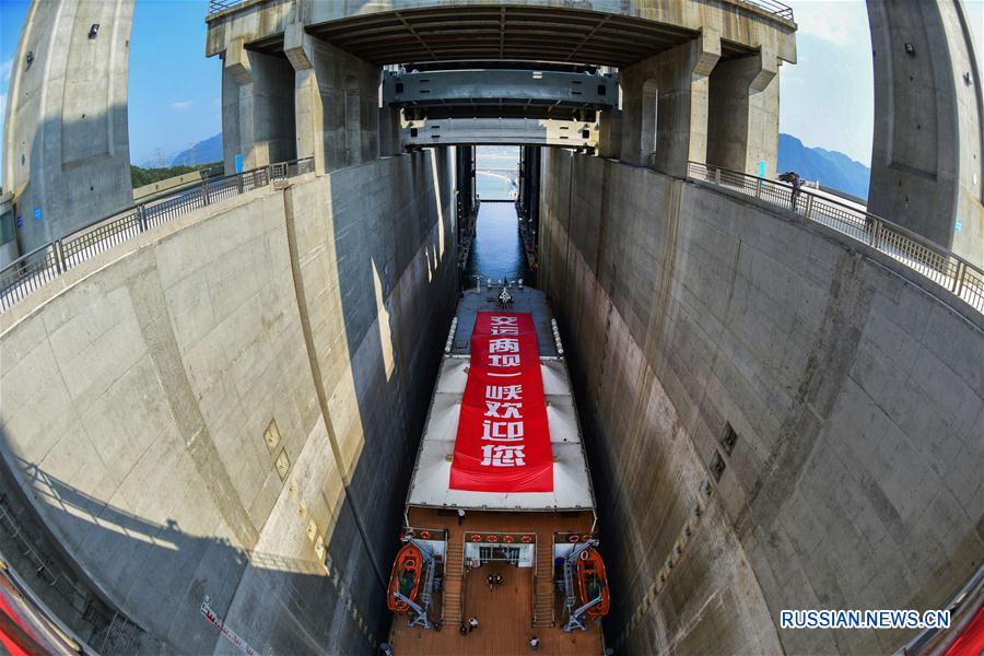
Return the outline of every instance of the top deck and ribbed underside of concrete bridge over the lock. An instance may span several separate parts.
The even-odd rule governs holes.
[[[735,52],[765,48],[796,61],[796,24],[739,0],[247,0],[211,14],[208,22],[209,57],[236,39],[277,40],[290,23],[300,22],[374,63],[505,58],[624,68],[702,30],[721,34]],[[501,34],[527,38],[500,44]],[[380,36],[386,37],[382,44]],[[612,47],[612,36],[632,47]],[[485,37],[494,48],[482,47]]]

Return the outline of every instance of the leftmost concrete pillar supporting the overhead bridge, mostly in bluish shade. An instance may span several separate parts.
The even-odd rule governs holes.
[[[294,69],[283,57],[248,50],[243,39],[225,49],[222,69],[222,142],[226,173],[296,156]]]

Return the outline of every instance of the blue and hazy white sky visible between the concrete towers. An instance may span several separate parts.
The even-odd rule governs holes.
[[[871,46],[859,0],[784,0],[799,24],[797,65],[780,70],[780,129],[868,164]],[[0,112],[27,0],[0,0]],[[981,59],[984,0],[965,1]],[[222,129],[221,60],[204,57],[207,0],[137,0],[130,39],[130,159],[174,155]],[[984,70],[984,67],[981,67]],[[0,117],[2,120],[2,117]]]

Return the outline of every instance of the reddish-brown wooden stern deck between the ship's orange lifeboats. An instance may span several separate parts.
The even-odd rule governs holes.
[[[517,567],[505,562],[487,563],[469,571],[459,567],[449,559],[446,563],[447,576],[462,572],[459,581],[445,581],[445,589],[461,590],[464,594],[464,613],[444,608],[445,622],[441,631],[427,631],[418,626],[407,626],[407,616],[394,616],[390,644],[396,656],[438,656],[443,654],[471,655],[509,655],[532,653],[529,640],[534,635],[540,639],[537,654],[572,655],[590,654],[598,656],[602,652],[601,631],[591,624],[588,631],[564,633],[563,600],[552,597],[544,600],[543,591],[552,589],[552,581],[540,581],[538,625],[534,625],[535,578],[547,578],[544,553],[553,553],[553,535],[555,532],[588,532],[591,529],[591,514],[577,513],[562,516],[559,513],[483,513],[469,511],[464,524],[459,525],[454,515],[442,515],[429,508],[411,508],[410,523],[417,527],[446,528],[448,531],[448,554],[461,559],[464,554],[457,546],[464,544],[465,531],[515,531],[536,532],[538,554],[534,567]],[[485,577],[500,574],[503,585],[489,589]],[[551,572],[552,574],[552,572]],[[436,609],[441,602],[436,596]],[[457,600],[457,594],[455,594]],[[555,622],[553,625],[540,625],[547,617],[546,604],[552,601]],[[475,617],[479,626],[467,635],[458,631],[458,617],[461,622]],[[448,621],[450,620],[450,621]]]

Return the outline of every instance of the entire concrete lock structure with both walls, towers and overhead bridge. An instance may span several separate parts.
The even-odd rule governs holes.
[[[43,220],[0,245],[0,554],[66,640],[377,653],[484,144],[522,149],[608,648],[928,654],[970,623],[984,176],[959,2],[869,2],[894,107],[870,213],[773,181],[796,23],[772,0],[211,5],[225,175],[166,209],[126,171],[131,2],[35,1],[14,59],[0,218]],[[956,600],[940,632],[780,621]]]

